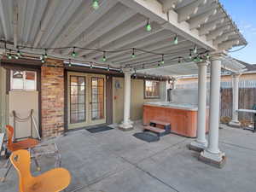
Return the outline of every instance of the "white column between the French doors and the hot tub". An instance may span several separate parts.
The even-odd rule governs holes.
[[[130,131],[132,129],[132,122],[130,120],[131,108],[131,70],[124,70],[125,74],[125,88],[124,88],[124,120],[119,125],[119,129],[123,131]]]

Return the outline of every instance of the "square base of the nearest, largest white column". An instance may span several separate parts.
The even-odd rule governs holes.
[[[220,152],[218,154],[212,154],[205,149],[204,151],[201,152],[198,160],[211,165],[211,166],[216,166],[218,168],[223,168],[224,164],[226,162],[226,156],[224,153]]]

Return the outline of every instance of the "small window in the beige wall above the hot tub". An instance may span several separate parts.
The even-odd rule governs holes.
[[[146,99],[160,98],[160,81],[145,80],[144,96]]]

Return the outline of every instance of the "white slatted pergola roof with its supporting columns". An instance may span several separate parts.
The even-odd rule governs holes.
[[[98,3],[98,9],[96,6],[93,9],[92,3]],[[247,41],[217,0],[1,0],[0,39],[2,55],[22,53],[39,59],[47,54],[67,63],[84,63],[84,67],[122,69],[125,107],[120,126],[123,129],[132,126],[134,70],[165,76],[198,72],[198,137],[191,145],[204,149],[203,158],[216,162],[224,159],[224,153],[218,149],[222,61],[227,60],[226,50],[246,45]],[[211,102],[207,143],[209,63]],[[233,72],[242,68],[230,60],[224,65]]]

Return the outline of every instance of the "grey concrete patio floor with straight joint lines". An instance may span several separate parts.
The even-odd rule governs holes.
[[[256,191],[256,134],[224,126],[220,148],[227,155],[223,169],[197,160],[186,147],[191,139],[168,135],[157,143],[132,137],[140,131],[113,129],[99,133],[71,131],[55,142],[62,166],[72,174],[67,191],[81,192],[254,192]],[[3,164],[3,161],[0,162]],[[42,171],[54,166],[53,158],[39,160]],[[32,172],[35,166],[32,163]],[[3,174],[3,169],[1,170]],[[1,192],[18,191],[14,169]]]

